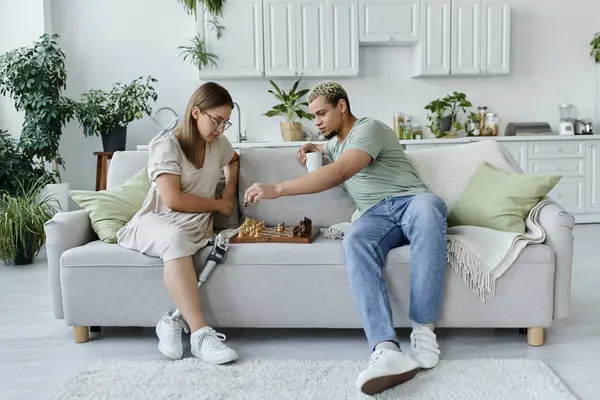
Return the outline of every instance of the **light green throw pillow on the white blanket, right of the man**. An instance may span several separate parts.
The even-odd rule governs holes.
[[[471,225],[525,233],[529,212],[560,178],[560,175],[506,173],[484,162],[450,211],[448,227]]]

